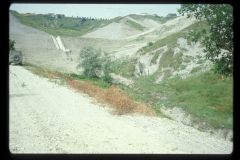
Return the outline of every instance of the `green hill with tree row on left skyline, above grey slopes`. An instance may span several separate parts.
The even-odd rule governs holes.
[[[42,30],[53,36],[82,36],[89,31],[93,31],[98,27],[104,27],[112,22],[112,20],[89,20],[86,18],[62,17],[55,19],[48,15],[31,15],[23,16],[16,11],[9,11],[22,24]],[[43,24],[45,27],[43,27]],[[61,25],[63,24],[63,25]]]

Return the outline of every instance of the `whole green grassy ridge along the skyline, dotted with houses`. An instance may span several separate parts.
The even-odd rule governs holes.
[[[43,14],[35,14],[35,15],[21,15],[16,11],[10,10],[15,18],[17,18],[22,24],[26,26],[30,26],[39,30],[42,30],[46,33],[49,33],[53,36],[67,36],[67,37],[75,37],[82,36],[87,33],[93,32],[99,28],[107,26],[113,22],[119,23],[120,20],[126,19],[126,17],[130,17],[126,22],[126,25],[133,27],[140,31],[145,31],[149,29],[146,25],[141,25],[138,22],[143,22],[146,19],[151,19],[152,22],[155,23],[165,23],[168,20],[165,17],[155,17],[151,15],[141,16],[141,15],[129,15],[124,17],[116,17],[111,20],[104,19],[87,19],[87,18],[73,18],[73,17],[61,17],[55,18],[49,15]],[[137,21],[137,22],[136,22]]]

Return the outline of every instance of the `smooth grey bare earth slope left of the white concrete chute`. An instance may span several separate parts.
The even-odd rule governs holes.
[[[81,70],[76,69],[79,63],[76,56],[68,56],[57,49],[50,34],[23,25],[11,13],[9,23],[9,37],[15,40],[16,50],[22,51],[23,63],[28,62],[56,71],[81,73]]]

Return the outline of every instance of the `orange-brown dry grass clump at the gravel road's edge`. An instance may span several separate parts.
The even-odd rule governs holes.
[[[83,93],[96,98],[100,103],[110,104],[113,107],[113,113],[122,114],[144,114],[156,115],[150,106],[132,100],[131,95],[127,95],[123,90],[112,85],[109,89],[103,89],[87,82],[75,81],[68,77],[68,83],[71,88],[77,89]]]

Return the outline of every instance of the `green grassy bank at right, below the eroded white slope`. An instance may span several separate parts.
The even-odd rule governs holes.
[[[186,79],[175,77],[165,79],[159,84],[152,83],[154,76],[132,78],[133,97],[151,105],[161,114],[163,104],[167,108],[180,107],[191,114],[193,122],[206,122],[214,129],[233,127],[233,79],[222,80],[220,74],[212,71],[194,74]]]

